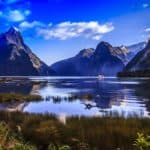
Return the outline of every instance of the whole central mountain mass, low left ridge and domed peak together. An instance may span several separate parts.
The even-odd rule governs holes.
[[[76,56],[54,63],[51,68],[60,76],[116,75],[121,71],[128,55],[127,49],[112,47],[101,42],[96,49],[83,49]]]

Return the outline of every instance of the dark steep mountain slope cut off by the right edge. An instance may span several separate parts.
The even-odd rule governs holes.
[[[150,69],[150,40],[146,47],[127,64],[124,71],[149,70]]]

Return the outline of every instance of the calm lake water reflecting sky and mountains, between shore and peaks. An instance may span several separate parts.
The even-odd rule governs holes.
[[[31,84],[29,81],[47,81]],[[21,84],[20,84],[21,83]],[[0,104],[1,110],[97,116],[119,114],[149,117],[150,79],[96,77],[30,77],[0,84],[0,93],[40,94],[40,102]]]

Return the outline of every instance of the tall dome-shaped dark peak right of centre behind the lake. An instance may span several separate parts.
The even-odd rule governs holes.
[[[98,44],[91,57],[90,70],[92,75],[116,75],[126,62],[126,52],[119,47],[112,47],[107,42]]]

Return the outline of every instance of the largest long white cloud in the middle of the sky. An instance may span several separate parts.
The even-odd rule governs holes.
[[[105,33],[114,30],[112,23],[99,24],[90,22],[62,22],[38,30],[38,35],[45,39],[57,38],[66,40],[69,38],[85,37],[99,40]]]

